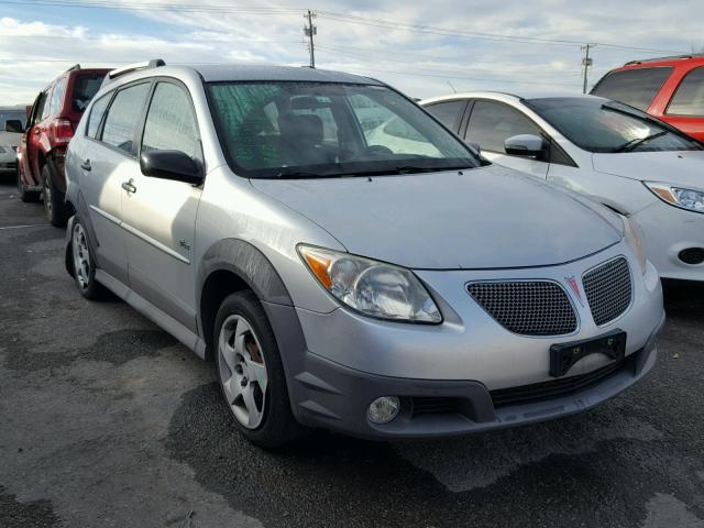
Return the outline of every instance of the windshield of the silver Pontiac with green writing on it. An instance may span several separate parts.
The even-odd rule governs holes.
[[[246,177],[406,174],[480,165],[424,110],[381,86],[209,85],[220,141]]]

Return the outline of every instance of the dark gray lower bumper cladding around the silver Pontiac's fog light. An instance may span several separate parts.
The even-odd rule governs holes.
[[[506,396],[502,395],[504,403],[495,406],[493,393],[476,381],[377,376],[314,354],[306,350],[295,310],[267,305],[265,308],[282,351],[297,420],[311,427],[378,440],[470,435],[590,409],[628,388],[652,369],[657,358],[656,336],[664,322],[663,318],[642,349],[592,383],[586,380],[573,391],[528,400],[524,397],[516,404],[506,404]],[[569,378],[556,381],[563,380]],[[398,396],[402,400],[400,414],[391,424],[375,425],[366,418],[367,406],[380,396]],[[440,405],[428,406],[433,400]],[[448,406],[448,403],[452,405]],[[425,411],[417,413],[415,405],[422,405]],[[427,411],[428,408],[438,411]]]

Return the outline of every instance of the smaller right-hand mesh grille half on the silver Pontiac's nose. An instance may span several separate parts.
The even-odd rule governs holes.
[[[630,306],[630,270],[623,256],[590,270],[582,283],[594,322],[598,326],[613,321]]]

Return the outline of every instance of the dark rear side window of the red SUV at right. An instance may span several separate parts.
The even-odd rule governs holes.
[[[597,82],[592,95],[625,102],[646,111],[670,74],[671,67],[612,72]]]

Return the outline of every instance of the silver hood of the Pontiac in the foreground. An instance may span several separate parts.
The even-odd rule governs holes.
[[[252,185],[316,222],[350,253],[411,268],[552,265],[620,240],[619,230],[571,194],[496,165],[462,175]]]

